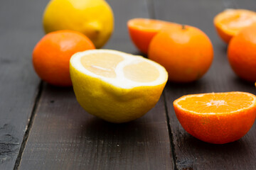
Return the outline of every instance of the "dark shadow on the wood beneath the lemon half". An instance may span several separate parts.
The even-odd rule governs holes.
[[[154,132],[156,127],[154,126],[156,125],[157,124],[146,124],[139,120],[130,123],[115,124],[93,117],[82,123],[82,128],[80,128],[79,133],[87,137],[97,137],[97,140],[105,140],[106,138],[111,137],[112,140],[115,140],[113,142],[120,143],[120,145],[127,142],[134,144],[143,142],[145,144],[146,141],[144,141],[144,135],[149,135],[149,138],[154,138],[154,135],[156,134]],[[129,149],[129,147],[134,146],[124,145],[122,146],[122,149]]]

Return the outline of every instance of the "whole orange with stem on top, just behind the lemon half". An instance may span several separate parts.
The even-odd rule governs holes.
[[[180,25],[154,36],[149,45],[149,59],[166,68],[170,81],[195,81],[210,68],[213,45],[203,31]]]

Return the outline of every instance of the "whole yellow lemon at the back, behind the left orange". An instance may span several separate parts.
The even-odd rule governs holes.
[[[100,48],[112,35],[114,16],[107,1],[51,0],[43,14],[43,28],[46,33],[79,31]]]

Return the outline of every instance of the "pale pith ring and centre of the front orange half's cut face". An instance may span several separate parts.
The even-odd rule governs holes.
[[[233,92],[225,92],[225,93],[212,93],[212,94],[227,94],[227,93],[240,93],[240,94],[247,94],[247,96],[251,96],[253,98],[253,101],[252,101],[252,104],[249,106],[249,107],[246,107],[246,108],[240,108],[236,111],[231,111],[231,112],[228,112],[228,114],[230,113],[240,113],[240,111],[244,111],[245,109],[250,109],[252,107],[255,107],[256,105],[256,96],[254,96],[253,94],[249,94],[249,93],[246,93],[246,92],[240,92],[240,91],[233,91]],[[210,93],[208,93],[210,94]],[[186,112],[190,112],[190,113],[195,113],[195,114],[210,114],[210,115],[218,115],[218,114],[223,114],[223,113],[198,113],[198,112],[195,112],[195,111],[191,111],[191,110],[188,110],[186,108],[183,108],[181,105],[178,104],[178,102],[180,101],[184,101],[186,100],[186,98],[191,98],[191,97],[194,97],[194,96],[198,96],[198,97],[201,97],[205,94],[191,94],[191,95],[186,95],[186,96],[183,96],[181,98],[178,98],[176,99],[176,101],[174,101],[175,105],[178,106],[178,108],[180,108],[181,110],[183,111],[186,111]],[[220,103],[220,105],[223,105],[223,102],[221,101],[215,101],[216,103]]]

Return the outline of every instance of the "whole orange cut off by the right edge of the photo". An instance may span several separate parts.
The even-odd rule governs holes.
[[[244,28],[228,45],[228,60],[239,77],[256,81],[256,26]]]

